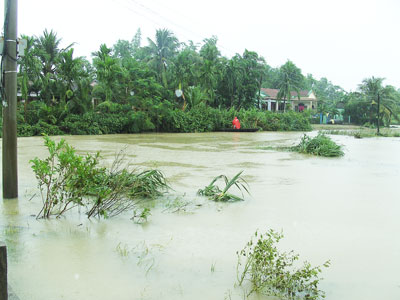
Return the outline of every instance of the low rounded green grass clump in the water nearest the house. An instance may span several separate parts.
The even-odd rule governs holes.
[[[304,134],[300,143],[297,146],[291,147],[290,150],[325,157],[338,157],[344,155],[341,146],[337,145],[323,133],[318,133],[314,138]]]

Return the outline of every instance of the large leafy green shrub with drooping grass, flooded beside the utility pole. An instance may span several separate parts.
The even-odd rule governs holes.
[[[63,139],[56,143],[45,136],[44,141],[49,156],[31,160],[43,200],[38,218],[59,217],[77,206],[88,207],[89,218],[113,217],[168,189],[158,170],[130,171],[122,167],[121,154],[107,169],[99,166],[99,152],[83,157]],[[148,212],[142,215],[147,217]]]

